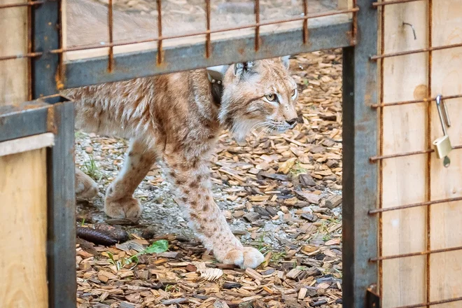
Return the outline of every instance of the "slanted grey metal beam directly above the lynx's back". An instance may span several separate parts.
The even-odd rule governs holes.
[[[71,60],[65,62],[64,87],[81,87],[250,59],[343,48],[354,44],[352,29],[351,21],[309,27],[308,41],[305,44],[302,27],[286,31],[268,31],[260,34],[258,51],[255,51],[254,34],[219,40],[212,38],[209,58],[205,56],[205,41],[166,46],[162,49],[162,64],[156,62],[157,50],[127,52],[114,55],[112,71],[108,71],[108,57]]]

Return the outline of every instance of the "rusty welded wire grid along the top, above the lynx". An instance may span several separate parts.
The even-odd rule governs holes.
[[[15,8],[15,7],[22,7],[22,6],[27,6],[30,10],[30,8],[33,8],[35,6],[39,6],[43,3],[46,3],[48,1],[61,1],[61,0],[35,0],[35,1],[28,1],[24,3],[10,3],[10,4],[3,4],[0,5],[0,9],[8,9],[8,8]],[[206,23],[206,30],[205,31],[195,31],[192,33],[185,33],[185,34],[178,34],[178,35],[172,35],[172,36],[163,36],[162,35],[162,0],[156,0],[157,4],[157,10],[158,10],[158,17],[157,17],[157,23],[158,23],[158,36],[155,38],[147,38],[147,39],[142,39],[142,40],[133,40],[133,41],[123,41],[123,42],[114,42],[113,41],[113,0],[108,1],[108,14],[107,14],[107,23],[108,23],[108,31],[109,31],[109,42],[107,43],[97,43],[97,44],[92,44],[92,45],[85,45],[85,46],[73,46],[69,48],[58,48],[55,50],[48,50],[45,52],[51,53],[51,54],[62,54],[64,52],[71,52],[71,51],[80,51],[80,50],[92,50],[92,49],[99,49],[99,48],[108,48],[108,65],[107,69],[109,72],[113,71],[114,68],[114,52],[113,48],[116,46],[122,46],[122,45],[132,45],[132,44],[138,44],[138,43],[149,43],[149,42],[157,42],[157,59],[154,59],[154,61],[160,65],[163,62],[163,50],[162,50],[162,41],[165,41],[167,39],[174,39],[174,38],[186,38],[190,36],[200,36],[204,35],[205,36],[205,57],[209,58],[211,57],[211,34],[216,34],[216,33],[221,33],[225,31],[233,31],[233,30],[239,30],[239,29],[255,29],[255,51],[258,51],[260,48],[260,27],[262,26],[267,26],[267,25],[276,25],[276,24],[282,24],[285,22],[295,22],[295,21],[302,21],[303,22],[303,43],[307,44],[308,43],[308,38],[309,38],[309,30],[308,30],[308,20],[311,18],[321,18],[325,16],[331,16],[331,15],[340,15],[340,14],[346,14],[346,13],[353,13],[353,21],[356,18],[356,12],[358,11],[358,8],[356,7],[356,0],[353,0],[353,7],[344,9],[344,10],[329,10],[321,13],[308,13],[308,0],[302,0],[302,5],[303,5],[303,14],[300,17],[297,18],[286,18],[282,20],[272,20],[272,21],[267,21],[267,22],[260,22],[260,0],[254,0],[254,14],[255,14],[255,23],[249,24],[249,25],[241,25],[237,27],[228,27],[225,29],[216,29],[212,30],[211,29],[211,0],[204,0],[204,6],[205,6],[205,23]],[[29,14],[30,15],[30,14]],[[29,18],[30,22],[30,18]],[[353,25],[353,27],[356,29],[356,25]],[[356,33],[355,29],[353,29],[353,38],[355,37],[354,34]],[[62,34],[61,34],[62,35]],[[29,45],[31,45],[29,43]],[[0,61],[8,60],[8,59],[20,59],[20,58],[37,58],[43,56],[45,52],[36,52],[34,50],[28,50],[27,53],[21,54],[21,55],[0,55]],[[63,63],[62,60],[63,57],[60,57],[59,59],[59,69],[63,69]],[[62,76],[62,74],[60,74]],[[60,80],[58,80],[58,84],[62,84]]]

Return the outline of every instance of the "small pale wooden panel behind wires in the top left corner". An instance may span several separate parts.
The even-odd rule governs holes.
[[[1,1],[1,4],[8,3],[18,3],[18,0]],[[0,29],[0,56],[27,53],[26,7],[0,10]],[[27,101],[27,62],[27,59],[0,61],[0,106]]]

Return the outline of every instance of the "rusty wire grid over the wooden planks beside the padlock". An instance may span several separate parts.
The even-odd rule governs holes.
[[[414,1],[426,1],[427,2],[427,9],[428,9],[428,36],[427,36],[427,41],[428,45],[427,48],[420,48],[420,49],[415,49],[415,50],[407,50],[407,51],[402,51],[402,52],[389,52],[385,53],[384,48],[385,48],[385,38],[384,38],[384,31],[385,25],[384,25],[384,20],[385,20],[385,9],[386,6],[388,5],[393,5],[393,4],[398,4],[398,3],[407,3],[407,2],[414,2]],[[436,97],[431,97],[431,76],[432,76],[432,52],[435,50],[446,50],[449,48],[458,48],[462,47],[462,43],[456,43],[456,44],[451,44],[451,45],[441,45],[434,47],[432,45],[432,22],[433,22],[433,0],[390,0],[390,1],[380,1],[380,2],[374,2],[372,3],[372,6],[375,8],[378,8],[380,10],[380,20],[381,20],[381,29],[380,31],[380,53],[379,55],[372,55],[370,57],[371,61],[380,61],[379,63],[379,71],[380,71],[380,102],[379,104],[373,104],[371,107],[373,109],[377,109],[379,112],[379,127],[380,127],[380,132],[379,132],[379,153],[380,155],[374,156],[370,158],[371,163],[378,163],[379,164],[379,207],[377,209],[372,209],[369,211],[369,214],[371,216],[373,215],[378,215],[379,216],[379,251],[378,251],[378,256],[375,258],[371,258],[370,262],[378,262],[379,264],[379,293],[380,295],[383,294],[383,272],[382,272],[382,265],[384,260],[391,260],[391,259],[398,259],[398,258],[409,258],[417,255],[426,255],[426,302],[422,302],[420,304],[409,304],[406,306],[400,306],[400,307],[395,307],[395,308],[418,308],[418,307],[430,307],[430,306],[435,306],[437,304],[447,304],[449,302],[458,302],[462,301],[462,297],[454,297],[454,298],[448,298],[444,300],[437,300],[437,301],[430,301],[430,255],[435,254],[435,253],[447,253],[449,251],[460,251],[462,250],[462,246],[456,246],[456,247],[450,247],[450,248],[442,248],[442,249],[434,249],[431,250],[430,246],[430,214],[431,214],[431,207],[432,206],[437,206],[438,204],[444,204],[446,202],[456,202],[456,201],[461,201],[462,197],[453,197],[453,198],[447,198],[443,200],[431,200],[430,196],[430,188],[431,188],[431,170],[430,170],[430,165],[431,165],[431,155],[433,155],[433,152],[435,150],[432,147],[432,140],[431,140],[431,104],[435,102]],[[388,57],[398,57],[402,55],[412,55],[412,54],[417,54],[420,52],[428,52],[428,78],[427,78],[427,94],[425,99],[416,99],[416,100],[409,100],[409,101],[402,101],[402,102],[384,102],[384,61],[383,59],[388,58]],[[461,81],[462,82],[462,81]],[[461,94],[453,94],[453,95],[448,95],[445,97],[442,97],[442,99],[456,99],[456,98],[461,98]],[[407,153],[394,153],[391,155],[383,155],[384,153],[384,112],[383,109],[388,107],[388,106],[400,106],[400,105],[406,105],[406,104],[421,104],[421,103],[426,103],[427,104],[427,121],[426,121],[426,144],[427,148],[426,150],[422,151],[412,151],[412,152],[407,152]],[[461,149],[462,145],[456,145],[452,147],[453,149]],[[427,164],[426,164],[426,196],[425,202],[418,202],[414,204],[404,204],[404,205],[398,205],[395,207],[383,207],[382,204],[382,192],[383,192],[383,165],[382,162],[386,159],[389,158],[400,158],[400,157],[405,157],[405,156],[412,156],[412,155],[425,155],[427,156]],[[426,207],[426,250],[425,251],[419,251],[415,253],[402,253],[398,255],[382,255],[382,213],[387,212],[387,211],[399,211],[402,209],[409,209],[413,207]]]

